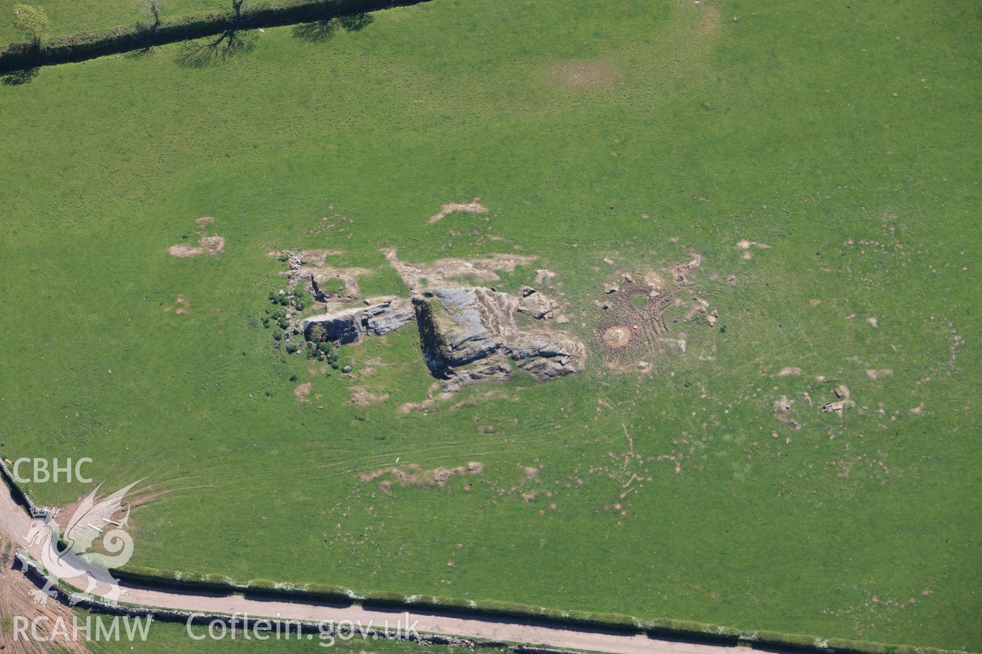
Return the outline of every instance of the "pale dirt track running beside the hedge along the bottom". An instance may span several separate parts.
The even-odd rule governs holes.
[[[17,547],[27,543],[25,536],[30,527],[30,517],[15,501],[10,488],[0,482],[0,530]],[[28,548],[34,559],[39,560],[39,546]],[[20,573],[10,573],[7,575]],[[84,586],[79,579],[66,579],[75,585]],[[148,586],[124,584],[128,594],[124,601],[147,607],[198,611],[213,613],[246,613],[250,617],[273,617],[280,614],[284,619],[317,622],[333,620],[369,621],[375,626],[405,617],[398,609],[364,608],[358,605],[339,607],[310,602],[287,602],[275,599],[247,598],[241,595],[217,596],[213,593],[194,593],[172,589],[157,589]],[[101,590],[101,587],[100,589]],[[97,590],[96,592],[99,592]],[[464,638],[486,638],[506,640],[517,643],[546,645],[556,648],[575,648],[598,652],[620,654],[725,654],[733,652],[727,645],[680,642],[650,638],[645,635],[629,635],[601,629],[577,629],[555,627],[547,624],[510,622],[507,619],[474,618],[454,615],[435,615],[431,613],[409,612],[409,620],[418,620],[419,632],[455,635]]]

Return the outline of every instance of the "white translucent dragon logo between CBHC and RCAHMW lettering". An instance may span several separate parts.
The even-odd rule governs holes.
[[[30,547],[40,546],[40,562],[47,571],[44,587],[30,591],[35,604],[44,606],[49,597],[57,596],[54,585],[59,579],[71,579],[73,585],[80,585],[77,579],[84,578],[82,592],[69,596],[72,606],[83,598],[93,598],[100,583],[109,587],[108,591],[98,588],[99,599],[104,603],[118,604],[127,594],[109,570],[126,565],[133,556],[133,537],[126,531],[129,504],[119,521],[113,516],[123,511],[123,497],[141,480],[96,501],[100,483],[79,504],[64,534],[53,515],[35,517],[27,531],[27,543]],[[100,549],[104,552],[93,550],[96,540],[101,540]]]

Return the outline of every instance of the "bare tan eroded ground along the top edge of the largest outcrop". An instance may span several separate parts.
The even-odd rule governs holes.
[[[453,285],[452,280],[473,279],[480,282],[500,281],[498,273],[514,273],[516,266],[525,266],[538,259],[518,254],[489,254],[480,259],[438,259],[432,264],[409,264],[400,261],[396,250],[384,249],[389,261],[410,293],[426,288]],[[547,271],[548,272],[548,271]]]

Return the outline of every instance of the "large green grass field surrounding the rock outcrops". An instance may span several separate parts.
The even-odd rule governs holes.
[[[171,490],[134,510],[136,565],[982,650],[978,5],[373,17],[251,32],[222,65],[173,44],[0,85],[4,456]],[[489,214],[427,224],[476,196]],[[225,252],[168,256],[202,216]],[[300,247],[374,271],[366,294],[405,294],[383,247],[536,255],[498,285],[555,272],[587,372],[404,413],[433,381],[407,327],[342,348],[355,378],[311,377],[259,323],[266,253]],[[603,282],[691,251],[719,322],[680,316],[686,351],[650,375],[610,367]],[[839,384],[855,405],[820,413]],[[360,480],[397,458],[484,472]]]

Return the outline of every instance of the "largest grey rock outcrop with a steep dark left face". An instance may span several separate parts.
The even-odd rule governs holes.
[[[533,288],[522,290],[519,300],[483,286],[447,286],[412,298],[423,357],[437,377],[453,380],[450,385],[480,377],[507,377],[505,359],[540,380],[582,371],[586,349],[562,331],[520,330],[515,312],[544,319],[552,302]],[[535,297],[540,296],[540,297]],[[529,299],[531,298],[531,299]],[[457,371],[485,359],[480,370]]]

